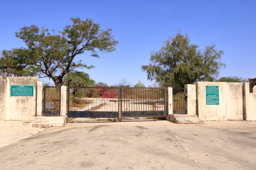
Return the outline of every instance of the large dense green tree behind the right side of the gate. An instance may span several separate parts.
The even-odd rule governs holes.
[[[222,55],[223,51],[216,50],[214,44],[200,50],[179,32],[166,40],[159,51],[152,51],[150,63],[141,68],[148,80],[164,87],[183,87],[196,81],[213,81],[220,68],[225,67]]]

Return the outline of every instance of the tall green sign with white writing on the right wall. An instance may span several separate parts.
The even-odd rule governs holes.
[[[206,105],[219,105],[219,86],[207,85],[206,86]]]

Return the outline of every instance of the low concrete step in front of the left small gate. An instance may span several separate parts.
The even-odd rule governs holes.
[[[37,116],[34,117],[32,126],[37,128],[49,128],[64,126],[66,118],[64,116]]]

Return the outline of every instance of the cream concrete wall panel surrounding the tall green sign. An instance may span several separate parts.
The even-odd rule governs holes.
[[[206,85],[219,86],[219,105],[206,105]],[[197,82],[197,114],[202,120],[243,120],[243,83]]]

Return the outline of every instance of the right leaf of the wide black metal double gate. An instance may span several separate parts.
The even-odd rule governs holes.
[[[165,117],[165,88],[122,88],[121,117]]]

